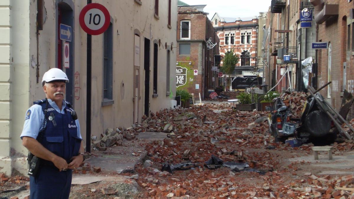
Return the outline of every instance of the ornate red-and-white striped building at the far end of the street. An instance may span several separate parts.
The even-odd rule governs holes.
[[[258,17],[229,18],[215,13],[211,21],[220,38],[220,55],[232,51],[239,57],[232,76],[256,76]]]

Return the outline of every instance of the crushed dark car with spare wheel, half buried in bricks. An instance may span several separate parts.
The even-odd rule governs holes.
[[[273,106],[266,110],[271,112],[268,120],[269,132],[276,142],[285,142],[289,137],[295,137],[302,143],[335,141],[338,130],[315,97],[322,102],[325,100],[320,93],[308,96],[299,118],[293,117],[290,107],[285,105],[282,97],[273,100]]]

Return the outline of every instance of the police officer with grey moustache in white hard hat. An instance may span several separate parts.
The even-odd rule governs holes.
[[[58,68],[42,79],[46,98],[34,102],[25,115],[22,144],[41,158],[38,174],[30,176],[31,199],[69,198],[72,169],[85,160],[80,125],[64,100],[67,75]]]

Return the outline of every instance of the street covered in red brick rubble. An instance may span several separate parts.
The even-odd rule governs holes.
[[[206,103],[108,129],[74,171],[70,198],[354,198],[351,140],[314,160],[312,143],[275,143],[268,114]],[[1,176],[1,198],[28,193],[28,178]]]

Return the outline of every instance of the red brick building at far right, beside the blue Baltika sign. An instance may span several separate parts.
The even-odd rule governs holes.
[[[320,93],[337,110],[341,107],[343,91],[354,93],[354,1],[310,0],[315,7],[320,42],[328,42],[328,49],[318,50],[318,87],[332,81]],[[347,119],[354,118],[353,107]]]

